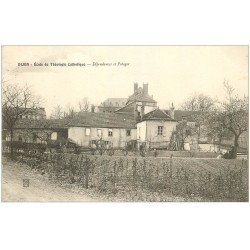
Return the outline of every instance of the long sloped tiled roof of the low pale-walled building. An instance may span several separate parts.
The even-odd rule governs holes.
[[[70,120],[68,127],[132,129],[136,128],[136,120],[132,115],[82,112]]]

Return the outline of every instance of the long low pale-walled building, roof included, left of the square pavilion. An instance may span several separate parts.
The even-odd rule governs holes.
[[[136,121],[133,115],[84,112],[68,123],[68,138],[85,147],[99,139],[124,147],[136,140]]]

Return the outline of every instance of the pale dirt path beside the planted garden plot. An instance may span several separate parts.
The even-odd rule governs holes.
[[[2,164],[2,201],[95,201],[87,194],[56,186],[27,166],[4,159]],[[29,179],[29,187],[23,187],[23,179]]]

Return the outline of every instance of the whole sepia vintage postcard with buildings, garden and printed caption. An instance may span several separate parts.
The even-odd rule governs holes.
[[[2,201],[247,202],[248,46],[2,46]]]

